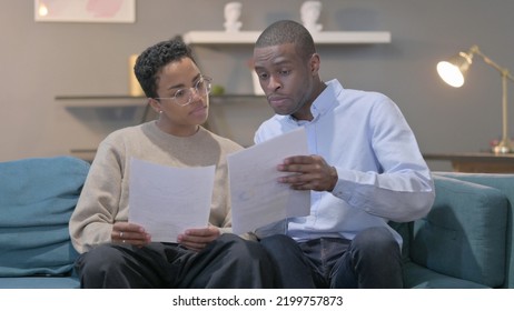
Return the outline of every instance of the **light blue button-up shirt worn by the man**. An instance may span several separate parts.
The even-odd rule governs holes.
[[[314,101],[312,121],[274,116],[255,134],[259,143],[305,127],[309,152],[337,170],[332,192],[312,191],[310,215],[256,231],[285,233],[297,241],[320,237],[352,240],[369,227],[387,227],[425,215],[434,201],[431,172],[397,106],[377,92],[347,90],[337,80]],[[277,163],[278,164],[278,163]],[[391,229],[391,228],[389,228]],[[391,229],[399,244],[402,238]]]

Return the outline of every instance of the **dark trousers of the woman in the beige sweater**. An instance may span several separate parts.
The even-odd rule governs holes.
[[[261,245],[221,234],[200,252],[175,243],[144,248],[105,244],[76,262],[82,288],[273,288],[273,264]]]

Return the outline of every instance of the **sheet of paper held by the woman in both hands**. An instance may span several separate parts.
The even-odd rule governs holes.
[[[131,159],[129,222],[142,225],[154,242],[177,242],[186,229],[209,221],[215,167],[172,168]]]

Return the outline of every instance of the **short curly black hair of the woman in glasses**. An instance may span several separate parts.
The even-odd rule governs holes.
[[[134,73],[148,98],[157,98],[157,76],[170,62],[189,58],[196,63],[191,49],[180,37],[161,41],[146,49],[136,60]]]

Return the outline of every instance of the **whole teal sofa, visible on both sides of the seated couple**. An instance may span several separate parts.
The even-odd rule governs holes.
[[[68,221],[89,163],[0,162],[0,289],[79,288]],[[434,172],[436,199],[403,235],[406,288],[514,288],[514,174]]]

